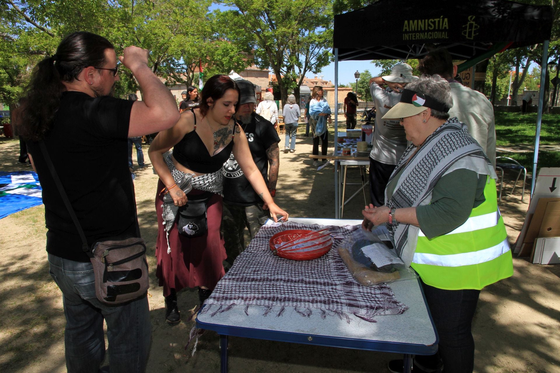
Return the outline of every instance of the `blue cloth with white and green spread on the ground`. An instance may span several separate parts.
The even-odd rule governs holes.
[[[42,204],[41,185],[35,172],[0,172],[0,219]]]

